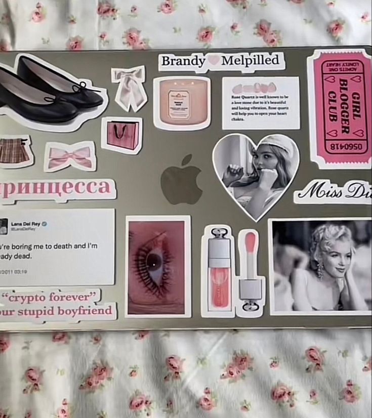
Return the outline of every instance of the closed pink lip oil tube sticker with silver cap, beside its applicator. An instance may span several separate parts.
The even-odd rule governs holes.
[[[203,317],[234,317],[233,237],[227,225],[209,225],[202,237],[201,314]]]

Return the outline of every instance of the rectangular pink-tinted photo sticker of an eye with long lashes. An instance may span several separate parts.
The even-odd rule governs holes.
[[[126,219],[126,317],[191,317],[189,216]]]

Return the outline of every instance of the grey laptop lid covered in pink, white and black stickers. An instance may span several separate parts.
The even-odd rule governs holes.
[[[0,331],[370,326],[371,150],[370,47],[4,53]]]

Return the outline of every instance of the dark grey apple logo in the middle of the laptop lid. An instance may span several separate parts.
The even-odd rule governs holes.
[[[182,160],[184,168],[168,167],[161,174],[161,190],[171,204],[195,204],[203,193],[196,184],[196,177],[201,170],[193,165],[185,167],[191,158],[192,154],[188,154]]]

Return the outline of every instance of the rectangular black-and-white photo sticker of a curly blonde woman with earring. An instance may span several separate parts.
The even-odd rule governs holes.
[[[269,220],[272,314],[370,314],[371,220]]]

